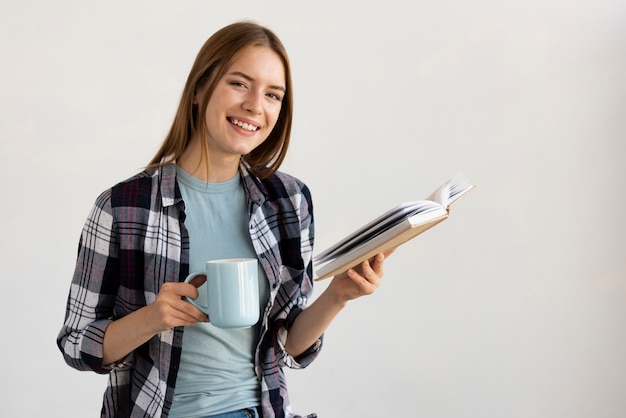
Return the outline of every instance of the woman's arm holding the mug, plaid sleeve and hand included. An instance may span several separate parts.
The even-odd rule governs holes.
[[[197,297],[195,283],[167,283],[154,303],[112,320],[119,240],[111,190],[107,190],[85,222],[65,321],[57,337],[65,361],[78,370],[106,373],[105,366],[121,360],[158,332],[206,320],[199,309],[181,300],[183,296]]]

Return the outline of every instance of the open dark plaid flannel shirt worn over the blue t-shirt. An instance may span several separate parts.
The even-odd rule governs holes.
[[[313,208],[309,189],[283,173],[268,179],[240,166],[250,236],[267,274],[270,300],[256,350],[263,417],[291,413],[282,367],[306,367],[320,338],[293,358],[287,333],[313,291]],[[147,169],[96,200],[80,238],[65,322],[57,344],[78,370],[108,373],[103,417],[166,417],[172,403],[184,327],[161,332],[118,362],[102,365],[114,320],[152,303],[165,282],[189,272],[189,236],[176,167]],[[315,417],[315,414],[309,417]]]

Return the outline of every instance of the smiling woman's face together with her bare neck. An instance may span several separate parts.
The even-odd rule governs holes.
[[[245,159],[274,129],[285,92],[285,70],[272,49],[251,46],[232,62],[210,94],[209,82],[200,84],[194,97],[200,108],[198,124],[205,129],[194,133],[178,164],[204,181],[220,182],[231,179],[239,158]]]

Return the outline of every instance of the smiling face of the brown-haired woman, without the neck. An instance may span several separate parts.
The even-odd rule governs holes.
[[[239,160],[276,125],[285,95],[285,68],[267,47],[249,47],[218,81],[206,109],[209,156]],[[204,89],[197,93],[202,100]]]

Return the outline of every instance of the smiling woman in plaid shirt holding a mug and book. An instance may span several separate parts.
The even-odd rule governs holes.
[[[70,366],[109,374],[102,416],[295,416],[282,367],[310,364],[337,313],[378,287],[383,254],[307,307],[311,196],[277,171],[292,106],[280,40],[254,23],[226,26],[198,53],[149,167],[97,199],[58,345]],[[250,256],[263,278],[261,320],[211,326],[183,280],[206,260]]]

